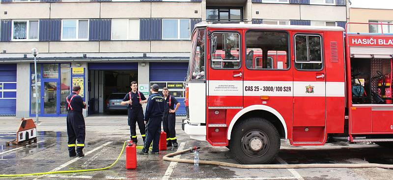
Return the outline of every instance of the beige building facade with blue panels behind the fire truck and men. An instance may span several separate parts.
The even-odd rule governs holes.
[[[102,113],[131,81],[146,94],[152,83],[168,86],[184,114],[196,23],[344,27],[346,7],[346,0],[1,0],[0,115],[34,116],[38,106],[40,116],[65,116],[73,85],[83,87],[84,115]]]

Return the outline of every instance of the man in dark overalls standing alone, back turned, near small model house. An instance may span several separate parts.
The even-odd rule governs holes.
[[[79,95],[80,86],[72,87],[72,93],[67,96],[67,135],[68,135],[68,154],[70,157],[84,157],[84,138],[85,126],[82,110],[86,109],[82,97]],[[75,141],[77,142],[75,144]],[[75,152],[76,147],[76,152]]]

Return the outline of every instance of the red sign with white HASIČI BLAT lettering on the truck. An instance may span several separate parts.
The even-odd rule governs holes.
[[[393,36],[348,35],[349,46],[393,47]]]

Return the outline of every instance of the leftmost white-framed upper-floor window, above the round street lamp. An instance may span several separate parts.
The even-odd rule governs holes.
[[[12,40],[38,40],[38,20],[13,21]]]

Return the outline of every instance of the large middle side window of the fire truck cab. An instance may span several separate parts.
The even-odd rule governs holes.
[[[249,69],[287,69],[287,32],[249,31],[246,33],[246,67]]]

